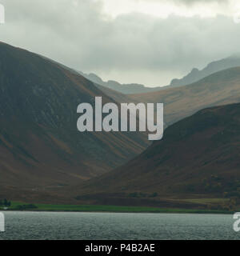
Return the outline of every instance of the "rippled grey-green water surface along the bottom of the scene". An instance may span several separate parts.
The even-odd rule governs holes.
[[[240,239],[231,214],[4,214],[0,239]]]

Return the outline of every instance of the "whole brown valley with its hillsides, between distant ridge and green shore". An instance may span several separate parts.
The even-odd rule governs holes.
[[[0,55],[1,198],[164,209],[238,206],[240,107],[233,103],[240,102],[239,67],[187,86],[126,95],[4,43]],[[79,133],[77,106],[96,97],[118,107],[163,102],[162,140],[150,143],[141,132]]]

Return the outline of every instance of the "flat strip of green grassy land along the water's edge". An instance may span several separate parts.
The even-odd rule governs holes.
[[[20,206],[20,208],[19,208]],[[0,208],[1,210],[1,208]],[[90,206],[90,205],[29,205],[23,202],[12,202],[8,210],[28,211],[68,211],[68,212],[112,212],[112,213],[190,213],[190,214],[232,214],[225,210],[190,210],[166,209],[138,206]]]

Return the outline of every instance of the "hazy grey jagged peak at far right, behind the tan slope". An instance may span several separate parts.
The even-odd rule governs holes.
[[[218,71],[230,69],[231,67],[237,66],[240,66],[240,54],[234,54],[228,58],[223,58],[221,60],[211,62],[202,70],[194,68],[193,70],[191,70],[190,74],[187,74],[185,77],[181,79],[173,79],[172,82],[170,82],[170,86],[186,86],[193,82],[197,82],[202,78],[206,78],[210,74],[214,74]]]

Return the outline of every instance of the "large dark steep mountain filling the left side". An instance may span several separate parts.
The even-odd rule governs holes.
[[[0,194],[78,184],[149,145],[142,133],[78,132],[77,106],[96,96],[114,102],[72,70],[0,43]]]

